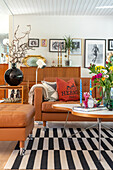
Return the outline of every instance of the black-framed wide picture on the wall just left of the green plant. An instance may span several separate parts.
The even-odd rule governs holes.
[[[49,40],[49,52],[65,52],[65,40],[64,39],[50,39]]]

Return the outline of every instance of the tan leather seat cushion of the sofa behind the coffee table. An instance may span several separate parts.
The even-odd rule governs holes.
[[[55,101],[55,102],[52,102],[52,101],[49,101],[49,102],[43,102],[42,103],[42,111],[43,112],[59,112],[59,113],[66,113],[67,111],[63,111],[63,110],[59,110],[59,109],[53,109],[52,108],[52,105],[53,104],[77,104],[77,103],[80,103],[80,101],[67,101],[67,102],[64,102],[64,101]]]

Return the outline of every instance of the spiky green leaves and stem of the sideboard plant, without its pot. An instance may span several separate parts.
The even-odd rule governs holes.
[[[70,51],[75,49],[75,45],[73,43],[73,39],[70,36],[68,37],[65,36],[64,40],[65,40],[65,50],[66,52],[68,51],[68,60],[69,60]]]

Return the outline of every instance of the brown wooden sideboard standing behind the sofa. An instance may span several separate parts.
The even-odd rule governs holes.
[[[36,68],[37,67],[21,67],[24,79],[22,84],[29,84],[29,87],[36,82]],[[38,83],[44,80],[45,77],[80,77],[80,67],[45,67],[38,69]]]

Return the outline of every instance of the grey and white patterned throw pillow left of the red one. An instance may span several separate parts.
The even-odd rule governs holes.
[[[56,82],[41,81],[44,87],[47,89],[48,100],[56,101],[58,100],[58,92]]]

